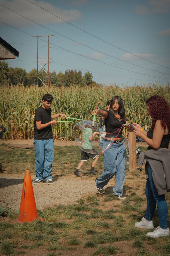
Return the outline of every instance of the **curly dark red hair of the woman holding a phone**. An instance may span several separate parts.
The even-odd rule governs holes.
[[[170,107],[167,101],[159,95],[153,95],[146,100],[146,105],[149,107],[149,115],[152,118],[151,130],[154,129],[157,120],[160,120],[164,130],[166,125],[170,130]]]

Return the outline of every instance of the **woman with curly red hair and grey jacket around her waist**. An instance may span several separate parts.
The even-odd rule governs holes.
[[[135,223],[137,228],[153,229],[153,214],[157,206],[159,227],[148,232],[148,237],[167,237],[167,202],[165,193],[170,192],[170,107],[167,101],[159,95],[153,95],[146,100],[147,113],[152,118],[151,129],[146,132],[139,124],[134,125],[136,136],[148,144],[145,153],[145,171],[147,199],[146,216]]]

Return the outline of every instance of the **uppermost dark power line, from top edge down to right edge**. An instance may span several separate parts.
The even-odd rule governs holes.
[[[63,18],[61,18],[61,17],[59,17],[58,15],[54,14],[53,12],[50,12],[50,11],[46,10],[45,8],[43,8],[42,6],[40,6],[40,5],[38,5],[38,4],[34,3],[34,2],[32,2],[31,0],[27,0],[27,1],[31,2],[32,4],[35,4],[36,6],[38,6],[38,7],[41,8],[41,9],[43,9],[44,11],[49,12],[50,14],[54,15],[54,16],[57,17],[58,19],[61,19],[61,20],[65,21],[66,23],[70,24],[71,26],[76,27],[76,28],[80,29],[81,31],[87,33],[88,35],[91,35],[91,36],[93,36],[93,37],[95,37],[95,38],[97,38],[97,39],[99,39],[99,40],[101,40],[101,41],[103,41],[103,42],[105,42],[105,43],[107,43],[107,44],[110,44],[110,45],[112,45],[113,47],[115,47],[115,48],[117,48],[117,49],[119,49],[119,50],[122,50],[122,51],[125,51],[125,52],[127,52],[127,53],[130,53],[130,54],[132,54],[132,55],[135,56],[135,57],[144,59],[144,60],[149,61],[149,62],[151,62],[151,63],[154,63],[154,64],[156,64],[156,65],[163,66],[163,65],[161,65],[161,64],[158,64],[158,63],[153,62],[153,61],[151,61],[151,60],[148,60],[148,59],[146,59],[146,58],[140,57],[140,56],[138,56],[138,55],[136,55],[136,54],[134,54],[134,53],[131,53],[131,52],[125,50],[125,49],[122,49],[122,48],[120,48],[119,46],[116,46],[116,45],[114,45],[114,44],[112,44],[112,43],[109,43],[109,42],[103,40],[102,38],[99,38],[98,36],[95,36],[95,35],[89,33],[88,31],[86,31],[86,30],[84,30],[84,29],[82,29],[82,28],[80,28],[80,27],[78,27],[78,26],[72,24],[71,22],[69,22],[69,21],[67,21],[67,20],[65,20],[65,19],[63,19]],[[163,66],[163,67],[166,67],[166,66]],[[167,68],[169,68],[169,67],[167,67]]]

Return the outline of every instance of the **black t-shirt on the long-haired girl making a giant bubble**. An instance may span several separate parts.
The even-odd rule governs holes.
[[[116,118],[114,119],[114,115],[110,111],[106,111],[108,116],[105,118],[105,126],[106,126],[106,133],[111,133],[111,134],[106,134],[106,137],[116,137],[118,135],[118,138],[122,137],[122,129],[121,131],[117,131],[120,127],[122,127],[123,122],[117,120]],[[125,117],[126,119],[126,117]],[[126,119],[127,120],[127,119]],[[114,133],[113,133],[114,132]]]

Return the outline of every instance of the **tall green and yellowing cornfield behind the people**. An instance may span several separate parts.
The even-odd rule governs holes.
[[[100,100],[100,108],[114,95],[123,98],[126,117],[129,122],[146,123],[151,120],[146,115],[145,101],[152,95],[164,97],[170,104],[170,87],[149,84],[140,86],[118,87],[115,85],[70,87],[37,87],[37,86],[1,86],[0,87],[0,126],[5,127],[6,139],[32,139],[34,137],[34,113],[42,104],[42,96],[50,93],[53,96],[52,114],[65,113],[68,117],[81,120],[92,118],[92,110]],[[97,121],[99,116],[97,116]],[[54,138],[73,140],[73,123],[58,123],[52,126]],[[126,134],[127,135],[127,134]]]

